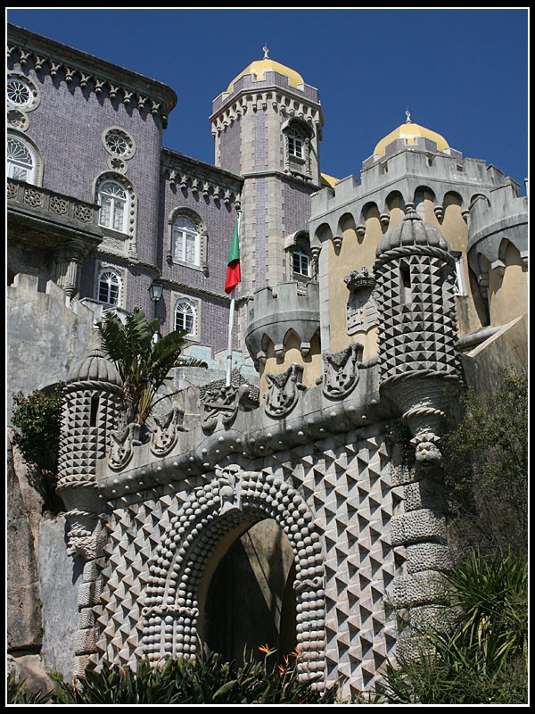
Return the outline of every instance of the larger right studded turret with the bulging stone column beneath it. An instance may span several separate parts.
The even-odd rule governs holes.
[[[395,578],[391,601],[405,611],[411,627],[443,610],[440,574],[451,566],[440,434],[461,378],[453,268],[440,232],[407,204],[405,219],[388,230],[378,246],[374,270],[381,314],[382,399],[408,427],[412,438],[406,449],[415,450],[410,468],[398,465],[404,512],[391,519],[392,544],[405,549],[407,557],[406,574]],[[398,448],[401,451],[399,439]],[[410,627],[407,632],[411,641]]]

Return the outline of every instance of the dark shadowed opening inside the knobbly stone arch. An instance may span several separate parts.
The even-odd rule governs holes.
[[[279,658],[297,645],[295,565],[292,545],[274,519],[237,535],[221,555],[216,549],[199,589],[202,642],[226,660],[243,653],[261,659],[268,644]]]

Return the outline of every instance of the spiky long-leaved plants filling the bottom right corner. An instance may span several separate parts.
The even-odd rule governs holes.
[[[376,700],[418,704],[527,702],[527,565],[473,552],[448,577],[458,617],[423,630],[425,648],[389,663]],[[430,644],[431,651],[430,651]]]

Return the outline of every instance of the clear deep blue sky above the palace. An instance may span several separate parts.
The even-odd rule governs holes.
[[[319,91],[325,173],[358,176],[408,108],[465,157],[522,187],[528,176],[527,8],[8,8],[6,19],[172,87],[163,145],[203,162],[214,162],[212,100],[267,43]]]

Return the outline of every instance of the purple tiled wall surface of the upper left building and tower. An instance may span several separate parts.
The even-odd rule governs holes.
[[[273,265],[280,270],[284,264],[284,237],[306,228],[309,195],[317,190],[314,182],[303,186],[284,176],[280,132],[284,116],[279,117],[276,109],[274,113],[271,103],[263,107],[268,106],[268,112],[251,111],[247,122],[243,116],[240,120],[239,112],[233,114],[222,136],[219,132],[218,166],[198,162],[161,145],[167,114],[176,104],[172,89],[27,30],[9,29],[8,72],[28,78],[39,95],[37,106],[26,112],[27,126],[13,125],[9,131],[37,148],[43,165],[42,187],[96,204],[98,182],[105,177],[119,180],[134,196],[128,230],[122,233],[99,226],[101,244],[79,261],[78,298],[99,303],[99,272],[113,270],[120,278],[122,310],[141,306],[150,317],[161,319],[161,331],[166,333],[175,328],[177,301],[190,300],[199,318],[192,344],[209,346],[212,355],[225,350],[230,304],[224,290],[226,262],[242,195],[246,195],[244,182],[249,180],[254,186],[254,199],[246,210],[255,235],[243,231],[243,260],[251,256],[255,262],[254,266],[243,264],[250,279],[236,291],[238,311],[254,290],[278,278]],[[262,81],[251,75],[238,79],[232,95],[221,95],[213,102],[213,116],[253,86],[268,90],[269,97],[269,89],[275,88],[279,102],[282,92],[287,101],[289,97],[318,104],[313,87],[290,87],[283,75],[267,72]],[[112,128],[126,132],[135,144],[122,162],[104,145],[105,134]],[[251,175],[256,172],[266,178]],[[280,205],[273,203],[274,187]],[[170,223],[181,210],[202,228],[205,253],[200,265],[187,265],[171,255]],[[281,243],[278,253],[271,247],[274,240]],[[52,264],[48,272],[53,274],[53,270]],[[148,293],[154,279],[163,284],[156,305]],[[234,346],[243,346],[237,324]]]

